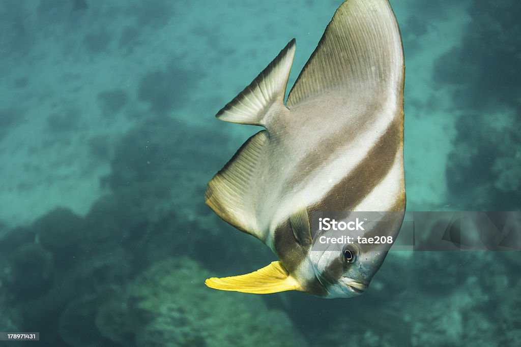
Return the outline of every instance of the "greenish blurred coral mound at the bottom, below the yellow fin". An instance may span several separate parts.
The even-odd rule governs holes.
[[[66,341],[80,334],[84,338],[76,341],[84,345],[96,343],[98,335],[137,347],[306,345],[282,312],[268,310],[252,295],[243,295],[237,305],[233,294],[202,286],[207,276],[188,258],[158,262],[101,304],[89,296],[70,304],[60,318],[60,334]],[[83,324],[68,324],[75,317]],[[93,324],[97,330],[85,335]]]

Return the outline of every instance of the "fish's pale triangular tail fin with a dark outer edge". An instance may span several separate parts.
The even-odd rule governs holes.
[[[272,105],[284,107],[284,94],[294,55],[293,38],[249,86],[217,112],[216,117],[232,123],[264,126],[264,118]]]

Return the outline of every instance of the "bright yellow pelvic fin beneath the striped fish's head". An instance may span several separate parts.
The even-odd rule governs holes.
[[[280,262],[272,262],[249,274],[208,278],[205,282],[210,288],[240,291],[243,293],[269,294],[287,290],[302,290],[301,285],[289,276]]]

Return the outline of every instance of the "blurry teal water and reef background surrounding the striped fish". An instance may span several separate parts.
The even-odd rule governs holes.
[[[341,3],[2,0],[0,331],[40,342],[0,344],[521,345],[519,252],[391,251],[352,299],[204,285],[276,260],[204,203],[258,131],[214,114],[296,37],[291,86]],[[391,4],[407,210],[521,210],[521,2]]]

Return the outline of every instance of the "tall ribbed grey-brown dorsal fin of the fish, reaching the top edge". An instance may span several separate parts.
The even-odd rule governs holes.
[[[286,105],[291,109],[331,93],[385,97],[402,87],[403,69],[400,31],[388,0],[347,0],[335,12]]]

